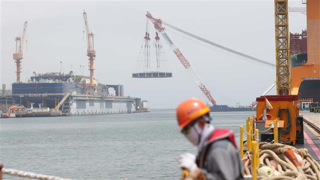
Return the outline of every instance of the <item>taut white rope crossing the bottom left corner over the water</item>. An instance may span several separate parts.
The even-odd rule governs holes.
[[[19,171],[19,170],[14,170],[14,169],[2,168],[1,171],[3,174],[6,174],[6,175],[19,176],[19,177],[23,177],[23,178],[32,178],[32,179],[37,179],[37,180],[70,180],[70,179],[60,178],[60,177],[56,177],[56,176],[41,175],[41,174]]]

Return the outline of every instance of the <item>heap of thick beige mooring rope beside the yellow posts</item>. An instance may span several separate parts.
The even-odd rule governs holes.
[[[320,180],[320,165],[308,154],[306,149],[296,149],[292,146],[279,143],[259,143],[259,165],[261,168],[267,166],[271,169],[270,175],[259,176],[260,180]],[[291,149],[302,158],[302,164],[295,166],[285,155]],[[242,161],[244,162],[245,176],[250,176],[251,159],[250,152],[246,152]],[[271,163],[271,161],[273,161]],[[274,163],[275,162],[275,163]]]

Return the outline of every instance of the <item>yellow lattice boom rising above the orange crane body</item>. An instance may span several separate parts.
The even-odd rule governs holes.
[[[274,0],[277,95],[291,94],[287,2],[287,0]]]

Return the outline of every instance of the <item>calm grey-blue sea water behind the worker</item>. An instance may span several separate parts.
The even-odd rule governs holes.
[[[212,124],[232,129],[238,142],[252,113],[216,112]],[[178,180],[178,156],[197,151],[178,132],[174,110],[0,121],[5,168],[70,179]]]

